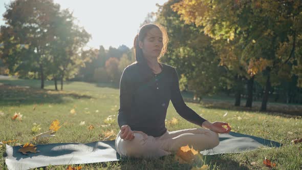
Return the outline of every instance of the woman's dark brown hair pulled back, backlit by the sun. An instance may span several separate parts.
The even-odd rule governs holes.
[[[135,56],[135,60],[137,62],[145,62],[145,58],[143,56],[143,51],[142,49],[139,47],[139,41],[143,41],[144,38],[146,37],[147,35],[147,32],[153,28],[158,28],[160,29],[160,31],[162,32],[162,35],[163,35],[163,48],[161,50],[161,53],[159,55],[158,58],[162,57],[166,50],[167,50],[167,44],[168,44],[168,35],[167,35],[167,31],[166,29],[159,25],[159,24],[145,24],[143,25],[140,30],[139,30],[139,33],[135,36],[134,38],[134,56]]]

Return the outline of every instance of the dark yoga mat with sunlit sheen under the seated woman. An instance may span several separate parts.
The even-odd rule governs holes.
[[[230,132],[219,135],[220,144],[211,150],[202,151],[203,155],[241,153],[256,148],[279,147],[281,143]],[[115,140],[96,141],[92,143],[51,143],[37,144],[37,153],[24,155],[18,152],[20,146],[6,145],[5,163],[11,169],[30,169],[48,165],[84,164],[118,161],[120,155],[115,149]]]

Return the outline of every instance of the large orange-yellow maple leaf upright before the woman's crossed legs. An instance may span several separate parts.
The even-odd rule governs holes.
[[[202,155],[188,145],[180,147],[176,153],[176,160],[178,160],[179,163],[192,163],[197,159],[201,160]]]

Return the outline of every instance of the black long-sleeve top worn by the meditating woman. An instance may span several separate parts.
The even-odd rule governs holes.
[[[177,113],[189,122],[201,126],[206,121],[185,104],[176,69],[161,64],[159,74],[140,62],[124,69],[120,80],[119,127],[127,124],[131,130],[149,136],[163,135],[167,131],[165,118],[170,100]]]

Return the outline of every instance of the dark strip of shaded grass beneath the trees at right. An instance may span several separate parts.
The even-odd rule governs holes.
[[[223,109],[229,111],[245,111],[245,112],[259,112],[263,114],[281,116],[286,118],[302,118],[302,105],[289,105],[282,103],[268,103],[267,111],[261,112],[261,103],[253,102],[252,108],[246,108],[244,106],[235,107],[234,103],[228,100],[213,100],[203,99],[201,102],[184,98],[185,102],[200,103],[202,107],[207,109]]]

